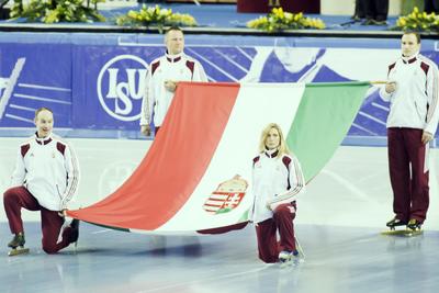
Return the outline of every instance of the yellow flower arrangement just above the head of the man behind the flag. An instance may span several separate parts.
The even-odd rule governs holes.
[[[190,14],[172,13],[171,9],[156,7],[142,7],[139,11],[131,10],[125,15],[116,19],[117,25],[130,26],[157,26],[161,32],[164,26],[196,26],[195,19]]]

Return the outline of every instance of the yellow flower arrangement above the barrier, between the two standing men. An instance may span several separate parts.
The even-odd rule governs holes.
[[[266,32],[279,32],[283,30],[317,29],[326,27],[320,19],[305,18],[302,12],[284,12],[282,8],[273,8],[267,16],[247,22],[247,27]]]

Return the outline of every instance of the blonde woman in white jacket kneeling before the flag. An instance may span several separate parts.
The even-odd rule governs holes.
[[[293,225],[295,196],[304,192],[305,181],[297,158],[290,153],[275,123],[262,131],[252,177],[255,203],[250,221],[256,226],[259,258],[264,262],[289,261],[297,256]]]

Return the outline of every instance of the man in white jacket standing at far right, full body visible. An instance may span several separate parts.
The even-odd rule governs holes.
[[[429,204],[428,143],[439,120],[438,67],[419,54],[419,34],[404,33],[401,48],[380,91],[391,102],[387,145],[395,216],[386,225],[420,229]]]

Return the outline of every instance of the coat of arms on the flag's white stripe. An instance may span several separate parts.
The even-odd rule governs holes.
[[[204,211],[214,215],[230,212],[243,201],[247,187],[247,181],[238,174],[221,183],[205,201]]]

